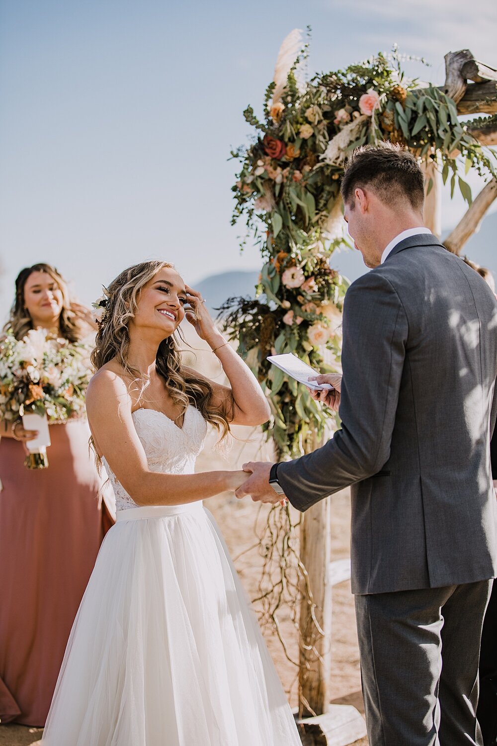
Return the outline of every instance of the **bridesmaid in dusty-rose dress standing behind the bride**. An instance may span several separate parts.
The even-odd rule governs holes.
[[[54,330],[69,342],[92,333],[54,267],[23,269],[7,326],[17,339]],[[104,533],[113,523],[89,454],[85,419],[51,424],[49,466],[24,466],[36,435],[0,423],[0,722],[45,725],[67,639]]]

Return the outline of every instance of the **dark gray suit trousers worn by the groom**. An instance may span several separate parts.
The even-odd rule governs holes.
[[[491,581],[355,596],[370,746],[481,746],[481,628]]]

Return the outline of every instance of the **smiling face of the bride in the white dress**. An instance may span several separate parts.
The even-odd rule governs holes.
[[[142,289],[131,324],[136,328],[156,329],[163,338],[171,336],[183,321],[187,303],[180,275],[174,269],[161,269]]]

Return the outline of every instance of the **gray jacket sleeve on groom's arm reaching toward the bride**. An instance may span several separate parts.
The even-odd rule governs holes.
[[[349,287],[343,336],[341,430],[322,448],[278,466],[278,481],[298,510],[371,477],[390,457],[408,319],[380,273]]]

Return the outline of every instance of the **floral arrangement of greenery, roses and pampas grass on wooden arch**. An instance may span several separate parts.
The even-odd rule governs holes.
[[[244,111],[253,142],[232,152],[241,163],[232,222],[245,220],[265,263],[256,299],[229,298],[221,309],[239,353],[268,393],[268,434],[279,454],[291,457],[311,449],[330,414],[266,358],[294,352],[322,372],[339,367],[348,282],[329,259],[346,244],[340,186],[349,152],[385,140],[404,145],[436,164],[444,184],[450,178],[452,195],[458,186],[468,204],[471,189],[460,166],[466,173],[496,173],[493,154],[459,121],[452,98],[406,78],[396,48],[302,84],[298,67],[308,45],[300,49],[300,39],[296,30],[283,42],[264,117],[251,107]],[[431,186],[430,179],[427,193]]]

